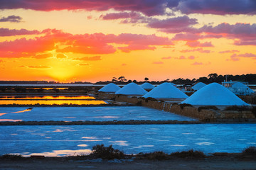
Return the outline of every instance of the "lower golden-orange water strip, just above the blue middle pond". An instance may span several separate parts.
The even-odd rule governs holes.
[[[9,105],[9,104],[17,104],[17,105],[35,105],[35,104],[46,104],[46,105],[63,105],[63,104],[76,104],[76,105],[100,105],[107,104],[105,101],[75,101],[75,100],[49,100],[49,101],[27,101],[27,100],[0,100],[0,105]]]

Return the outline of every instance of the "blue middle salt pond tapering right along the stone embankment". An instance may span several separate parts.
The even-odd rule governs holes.
[[[0,121],[194,120],[142,106],[0,108]]]

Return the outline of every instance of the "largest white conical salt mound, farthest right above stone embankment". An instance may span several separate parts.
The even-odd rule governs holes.
[[[196,91],[181,103],[204,106],[248,106],[233,92],[218,83],[212,83]]]

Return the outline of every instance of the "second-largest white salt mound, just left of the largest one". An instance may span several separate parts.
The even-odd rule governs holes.
[[[188,98],[186,94],[170,83],[163,83],[142,96],[144,98]]]

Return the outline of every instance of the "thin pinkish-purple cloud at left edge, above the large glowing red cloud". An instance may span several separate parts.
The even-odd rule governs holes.
[[[39,34],[40,31],[38,30],[16,30],[16,29],[9,29],[9,28],[0,28],[0,36],[14,36],[14,35],[36,35]]]

